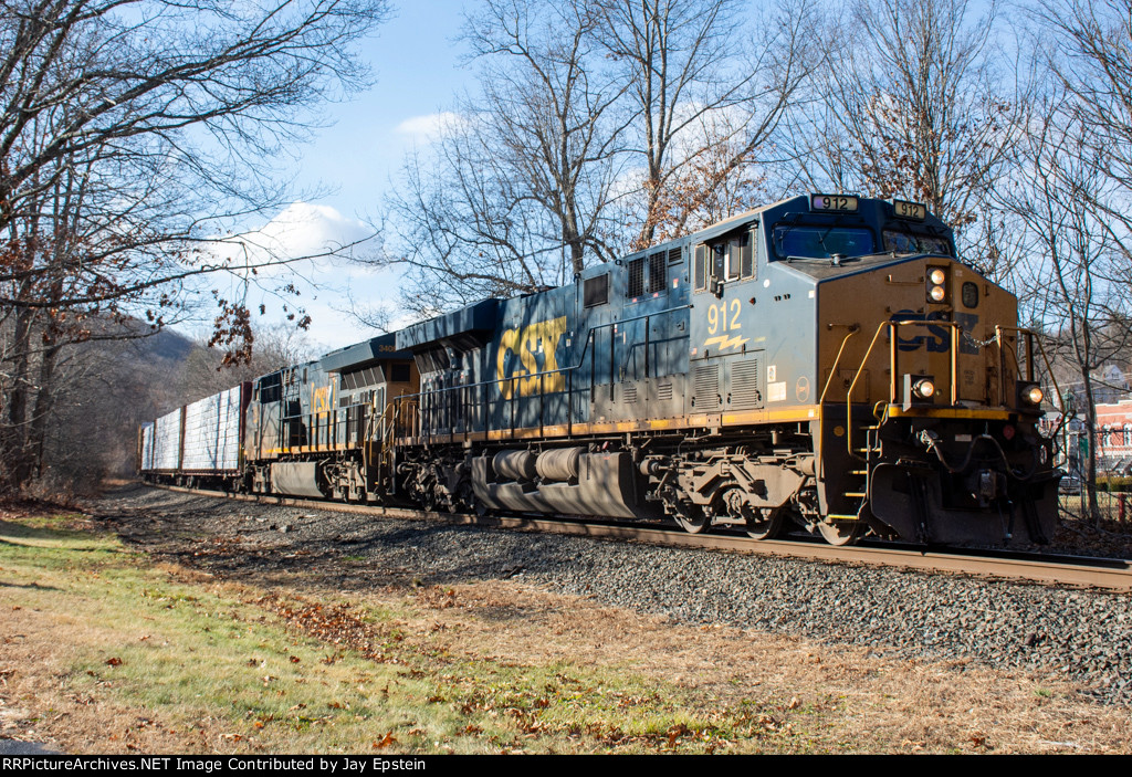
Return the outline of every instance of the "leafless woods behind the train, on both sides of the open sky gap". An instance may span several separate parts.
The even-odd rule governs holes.
[[[353,43],[388,11],[5,5],[0,489],[45,469],[66,480],[45,430],[97,417],[82,409],[96,392],[74,387],[134,379],[92,354],[145,347],[129,343],[209,310],[220,360],[252,359],[256,311],[201,299],[191,279],[251,286],[256,262],[290,260],[214,245],[288,201],[285,171],[249,161],[301,143],[318,105],[370,83]],[[900,197],[952,224],[961,258],[1019,295],[1092,432],[1095,375],[1126,363],[1132,335],[1132,0],[482,0],[468,12],[477,86],[380,204],[381,252],[367,260],[401,267],[405,285],[363,320],[569,283],[784,196]],[[273,291],[293,305],[285,282]],[[155,382],[169,388],[160,370]],[[76,447],[105,433],[72,428]]]

